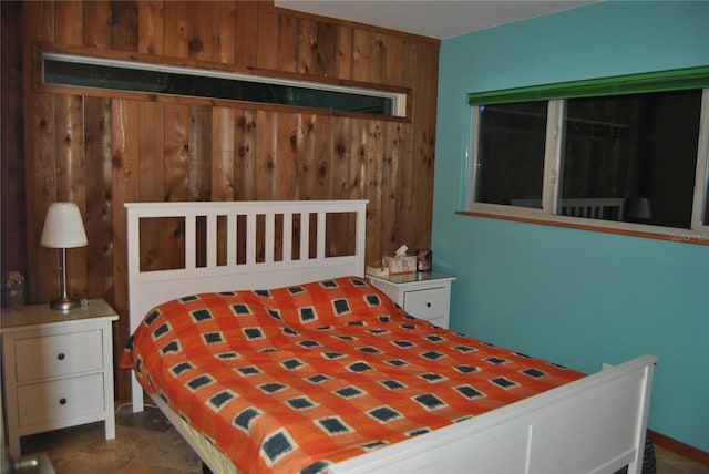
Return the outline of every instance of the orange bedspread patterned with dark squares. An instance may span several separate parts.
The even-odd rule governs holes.
[[[121,367],[244,473],[318,473],[575,371],[411,318],[349,277],[152,310]]]

